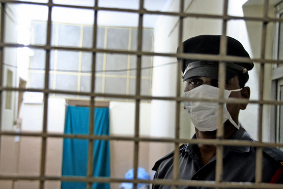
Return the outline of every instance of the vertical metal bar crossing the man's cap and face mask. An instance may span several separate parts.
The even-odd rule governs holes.
[[[228,11],[228,0],[223,1],[223,16],[227,16]],[[226,29],[227,29],[227,20],[223,19],[223,26],[222,26],[222,36],[220,39],[220,55],[226,55],[227,49],[227,37],[226,37]],[[224,62],[219,62],[219,73],[218,73],[218,87],[219,87],[219,99],[224,98],[224,88],[225,88],[225,79],[226,79],[226,65]],[[226,104],[219,103],[218,104],[218,128],[217,128],[217,139],[223,139],[223,107]],[[222,174],[223,174],[223,145],[216,146],[216,182],[222,182]]]

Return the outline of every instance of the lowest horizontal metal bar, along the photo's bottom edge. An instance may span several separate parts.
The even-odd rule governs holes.
[[[197,181],[197,180],[172,180],[172,179],[123,179],[109,177],[77,177],[77,176],[15,176],[15,175],[0,175],[0,180],[30,180],[30,181],[66,181],[66,182],[100,182],[100,183],[145,183],[158,185],[179,185],[179,186],[199,186],[199,187],[219,187],[219,188],[245,188],[245,189],[282,189],[282,184],[268,183],[251,183],[251,182],[221,182],[214,181]]]

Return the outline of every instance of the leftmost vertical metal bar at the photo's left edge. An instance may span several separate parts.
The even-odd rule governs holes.
[[[0,43],[4,42],[4,26],[5,26],[5,3],[1,3],[1,23],[0,23]],[[4,47],[0,47],[0,86],[3,86],[3,55]],[[2,91],[0,91],[0,102],[2,101]],[[0,103],[0,131],[2,131],[2,104]],[[1,135],[0,135],[0,146],[1,146]],[[1,148],[0,148],[1,154]]]

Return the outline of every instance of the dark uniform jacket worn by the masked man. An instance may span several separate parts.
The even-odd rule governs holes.
[[[195,135],[193,138],[196,138]],[[253,141],[241,126],[229,139]],[[202,165],[199,148],[196,144],[183,144],[179,150],[179,179],[215,181],[215,161]],[[255,147],[224,146],[223,181],[254,182],[255,181]],[[159,159],[153,171],[155,179],[173,179],[174,154]],[[278,148],[263,148],[262,182],[283,183],[283,152]],[[152,189],[171,189],[172,186],[152,185]],[[200,187],[179,186],[179,189],[200,189]]]

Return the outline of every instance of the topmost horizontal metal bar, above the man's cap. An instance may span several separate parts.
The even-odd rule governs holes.
[[[20,3],[20,4],[33,4],[44,5],[48,7],[65,7],[65,8],[78,8],[88,9],[94,11],[116,11],[116,12],[128,12],[136,14],[149,14],[149,15],[164,15],[164,16],[181,16],[181,17],[196,17],[196,18],[209,18],[209,19],[223,19],[223,20],[245,20],[245,21],[261,21],[261,22],[283,22],[282,18],[270,18],[270,17],[252,17],[252,16],[223,16],[223,15],[210,15],[210,14],[197,14],[197,13],[180,13],[180,12],[162,12],[162,11],[149,11],[146,9],[123,9],[123,8],[110,8],[110,7],[96,7],[96,6],[82,6],[82,5],[68,5],[68,4],[56,4],[56,3],[40,3],[30,1],[19,0],[0,0],[3,3]]]

